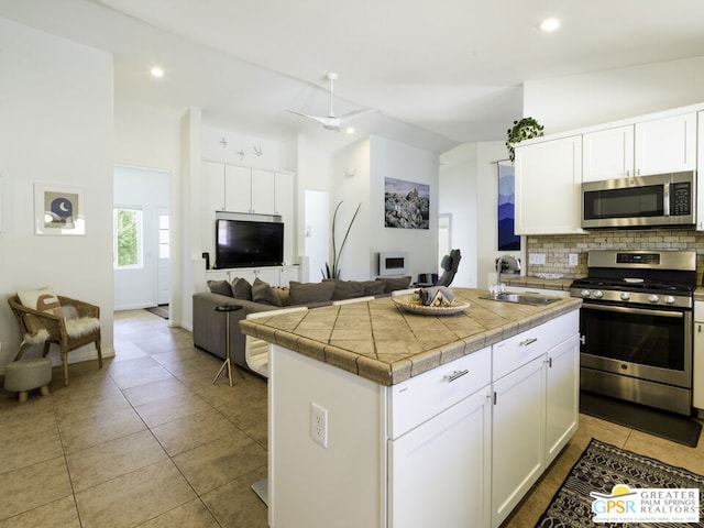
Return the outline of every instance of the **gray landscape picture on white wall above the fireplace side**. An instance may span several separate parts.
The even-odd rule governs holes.
[[[384,227],[430,229],[430,186],[385,178]]]

